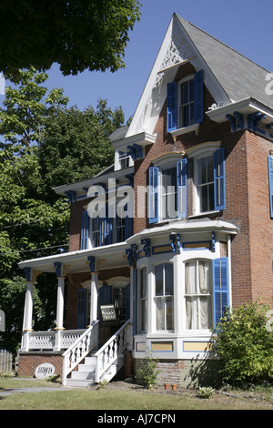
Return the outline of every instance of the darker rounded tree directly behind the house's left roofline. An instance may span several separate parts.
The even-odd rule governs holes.
[[[108,137],[123,124],[122,108],[113,111],[103,99],[97,101],[96,109],[56,109],[46,120],[39,150],[45,188],[91,178],[111,165],[114,148]]]

